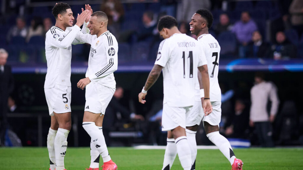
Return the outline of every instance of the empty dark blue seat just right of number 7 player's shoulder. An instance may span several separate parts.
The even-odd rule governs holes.
[[[218,42],[221,47],[220,54],[235,54],[237,49],[237,39],[231,32],[222,32],[218,36]]]

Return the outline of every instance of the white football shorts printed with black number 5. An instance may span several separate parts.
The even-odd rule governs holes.
[[[55,113],[67,113],[71,110],[72,87],[56,84],[53,88],[44,88],[49,116]]]

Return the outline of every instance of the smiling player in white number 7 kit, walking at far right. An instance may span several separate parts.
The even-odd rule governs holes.
[[[197,155],[195,134],[202,120],[206,136],[211,142],[218,146],[223,155],[228,159],[231,163],[232,170],[241,170],[243,162],[240,159],[236,159],[230,143],[219,133],[219,123],[221,121],[221,89],[218,83],[220,45],[218,41],[208,33],[208,29],[211,28],[213,20],[210,11],[199,9],[192,16],[191,22],[189,23],[191,34],[197,36],[197,41],[202,45],[207,59],[210,82],[209,95],[213,112],[208,116],[203,116],[203,108],[194,106],[193,112],[191,112],[186,119],[186,132],[188,141],[191,143],[192,159],[195,159]],[[198,84],[196,85],[195,93],[197,94],[195,98],[196,102],[200,102],[200,97],[203,98],[204,96],[203,93],[199,92]],[[197,106],[199,105],[200,104]]]

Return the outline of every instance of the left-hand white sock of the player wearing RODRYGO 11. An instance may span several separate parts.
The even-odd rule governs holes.
[[[167,138],[162,170],[169,170],[171,168],[176,158],[176,155],[177,155],[177,146],[175,144],[175,139]]]

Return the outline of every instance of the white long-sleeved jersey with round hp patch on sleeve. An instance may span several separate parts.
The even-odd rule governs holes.
[[[91,34],[78,34],[76,38],[91,44],[85,77],[88,77],[92,83],[116,88],[114,71],[118,69],[118,42],[115,36],[106,31],[99,37]]]

